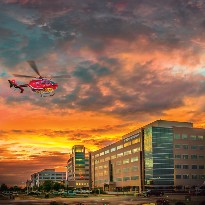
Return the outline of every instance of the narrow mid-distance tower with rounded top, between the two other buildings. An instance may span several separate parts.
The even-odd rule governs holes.
[[[72,147],[72,153],[67,162],[67,187],[76,189],[90,188],[89,153],[83,145]]]

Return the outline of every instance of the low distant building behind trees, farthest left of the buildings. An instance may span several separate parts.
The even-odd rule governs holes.
[[[31,187],[39,187],[46,180],[53,182],[65,182],[66,172],[56,172],[55,169],[44,169],[31,175]]]

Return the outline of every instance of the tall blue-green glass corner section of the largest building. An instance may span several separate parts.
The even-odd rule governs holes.
[[[173,129],[144,130],[145,184],[174,185]]]

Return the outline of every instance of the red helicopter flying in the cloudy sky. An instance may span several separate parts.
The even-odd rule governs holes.
[[[60,76],[51,76],[50,79],[42,77],[38,71],[36,63],[32,60],[27,61],[31,68],[38,74],[39,77],[28,76],[28,75],[19,75],[13,74],[15,77],[23,77],[23,78],[33,78],[28,84],[17,84],[15,80],[8,80],[10,84],[10,88],[18,88],[20,93],[24,92],[24,87],[30,87],[31,90],[35,93],[41,95],[41,97],[53,96],[55,94],[55,90],[58,88],[58,84],[51,81],[51,78],[70,78],[70,75],[60,75]]]

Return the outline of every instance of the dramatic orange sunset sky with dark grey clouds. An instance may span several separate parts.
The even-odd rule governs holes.
[[[52,97],[10,89],[36,73]],[[73,145],[95,151],[158,119],[205,127],[204,0],[1,0],[0,184],[66,171]]]

